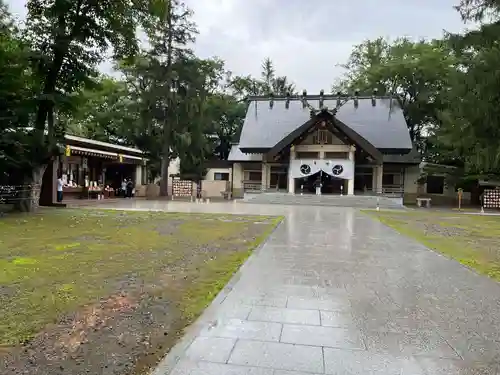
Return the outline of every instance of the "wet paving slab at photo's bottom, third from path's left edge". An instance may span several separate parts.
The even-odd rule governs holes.
[[[325,348],[325,372],[332,375],[424,375],[411,357]]]

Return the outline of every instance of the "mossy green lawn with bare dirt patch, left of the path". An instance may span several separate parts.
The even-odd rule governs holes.
[[[142,373],[280,220],[69,209],[1,218],[0,373]]]

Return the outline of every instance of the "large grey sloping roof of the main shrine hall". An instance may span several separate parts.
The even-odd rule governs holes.
[[[371,98],[360,98],[359,105],[349,100],[337,112],[337,119],[380,149],[411,150],[412,143],[403,111],[395,100],[390,108],[389,98],[377,98],[372,106]],[[314,108],[319,108],[318,100],[308,100]],[[324,106],[336,107],[335,99],[325,100]],[[284,100],[275,100],[269,108],[268,100],[252,100],[241,131],[239,147],[272,148],[287,134],[310,119],[308,108],[296,98],[290,101],[289,108]]]

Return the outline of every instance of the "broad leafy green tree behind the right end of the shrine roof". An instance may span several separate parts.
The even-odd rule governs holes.
[[[425,152],[427,134],[439,123],[442,94],[456,70],[456,59],[444,41],[407,38],[389,43],[384,39],[365,41],[354,48],[345,65],[341,86],[353,92],[394,95],[400,101],[410,137]]]

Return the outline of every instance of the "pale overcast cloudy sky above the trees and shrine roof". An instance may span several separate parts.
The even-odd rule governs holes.
[[[6,0],[24,18],[25,0]],[[329,91],[353,45],[379,36],[433,38],[465,29],[458,0],[185,0],[200,35],[195,52],[235,74],[260,74],[270,57],[280,75],[310,93]],[[104,65],[103,70],[109,70]]]

